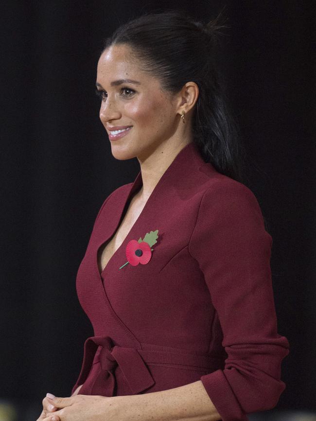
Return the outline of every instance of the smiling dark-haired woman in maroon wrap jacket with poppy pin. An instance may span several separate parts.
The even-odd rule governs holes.
[[[94,336],[72,395],[39,420],[247,420],[276,405],[271,236],[240,181],[216,21],[144,15],[106,40],[100,119],[133,183],[102,205],[77,275]]]

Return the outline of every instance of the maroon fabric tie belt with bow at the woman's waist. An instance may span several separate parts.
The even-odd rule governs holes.
[[[101,369],[95,378],[85,383],[98,347]],[[146,364],[176,364],[197,369],[214,370],[222,360],[210,355],[194,355],[185,352],[136,350],[114,345],[109,336],[91,336],[85,341],[83,365],[77,385],[85,383],[86,394],[113,396],[116,378],[114,370],[120,367],[131,389],[136,395],[155,384]],[[80,392],[79,392],[80,393]]]

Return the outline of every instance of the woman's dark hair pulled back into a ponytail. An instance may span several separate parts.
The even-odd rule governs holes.
[[[225,27],[218,18],[204,24],[177,10],[144,14],[106,38],[104,50],[129,45],[142,70],[158,78],[167,92],[176,93],[187,82],[195,82],[199,95],[193,108],[193,141],[205,162],[242,181],[238,130],[216,66],[217,34]]]

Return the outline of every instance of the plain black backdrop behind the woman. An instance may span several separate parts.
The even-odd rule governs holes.
[[[3,2],[4,3],[4,2]],[[226,5],[219,56],[240,125],[245,184],[273,238],[282,363],[278,408],[316,409],[314,1],[178,1],[195,18]],[[159,6],[168,8],[168,1]],[[0,398],[69,396],[93,334],[75,290],[105,197],[135,179],[112,157],[94,94],[102,41],[156,1],[1,6]]]

